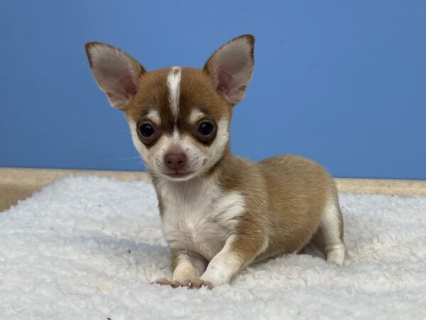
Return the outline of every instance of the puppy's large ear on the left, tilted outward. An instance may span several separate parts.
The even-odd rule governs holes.
[[[113,107],[124,109],[138,92],[139,77],[146,70],[130,55],[105,43],[86,43],[94,80]]]

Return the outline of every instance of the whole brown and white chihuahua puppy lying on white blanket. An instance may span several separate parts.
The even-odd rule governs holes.
[[[344,262],[343,218],[334,181],[301,156],[253,163],[231,154],[232,108],[253,73],[254,38],[221,46],[204,68],[148,72],[104,43],[86,44],[92,75],[124,111],[158,196],[171,279],[200,288],[228,284],[253,262],[297,252],[318,233],[328,262]]]

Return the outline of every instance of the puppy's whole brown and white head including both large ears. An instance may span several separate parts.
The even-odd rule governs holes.
[[[240,36],[220,47],[203,69],[151,72],[103,43],[87,43],[86,52],[99,87],[125,112],[147,169],[186,181],[209,171],[229,147],[231,109],[251,79],[253,45],[253,36]]]

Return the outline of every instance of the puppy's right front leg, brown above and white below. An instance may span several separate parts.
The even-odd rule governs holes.
[[[266,245],[266,238],[260,235],[256,237],[253,237],[252,234],[231,235],[222,250],[209,262],[207,270],[200,279],[193,279],[189,286],[212,288],[228,284],[240,270],[265,250]]]

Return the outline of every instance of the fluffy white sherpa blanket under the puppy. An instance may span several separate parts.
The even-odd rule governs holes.
[[[231,285],[170,277],[153,187],[67,177],[0,213],[0,319],[426,319],[426,198],[340,194],[347,259],[282,255]]]

